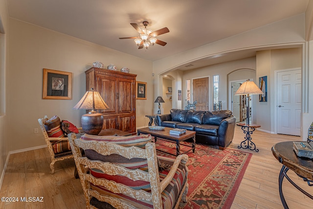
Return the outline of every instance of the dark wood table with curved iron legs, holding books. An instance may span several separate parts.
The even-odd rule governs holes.
[[[289,169],[293,170],[303,181],[307,182],[309,186],[313,186],[313,160],[309,158],[300,158],[293,151],[293,142],[280,142],[272,147],[274,157],[283,164],[279,173],[279,195],[285,209],[289,209],[284,198],[282,183],[284,177],[299,191],[304,193],[309,198],[313,196],[297,186],[287,175]]]

